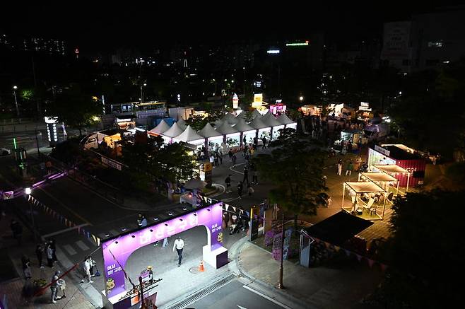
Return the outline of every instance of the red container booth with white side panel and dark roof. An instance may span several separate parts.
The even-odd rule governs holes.
[[[397,145],[375,145],[368,149],[368,165],[397,165],[405,172],[396,172],[400,187],[423,185],[426,161],[417,153],[406,151]],[[388,172],[386,172],[388,173]]]

